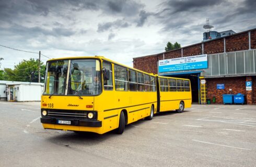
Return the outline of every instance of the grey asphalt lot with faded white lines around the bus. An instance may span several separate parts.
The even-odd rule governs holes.
[[[0,166],[255,166],[256,106],[196,105],[122,135],[43,129],[40,103],[0,102]]]

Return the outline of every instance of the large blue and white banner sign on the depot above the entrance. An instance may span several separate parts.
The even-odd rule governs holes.
[[[158,64],[159,73],[202,68],[208,68],[206,54],[171,59],[162,59],[159,61]]]

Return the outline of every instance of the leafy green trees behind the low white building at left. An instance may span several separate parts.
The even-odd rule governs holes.
[[[5,68],[4,78],[5,80],[24,81],[24,82],[38,82],[38,65],[39,60],[30,58],[28,61],[23,60],[18,65],[14,66],[14,69]],[[45,74],[45,65],[40,62],[41,77]],[[44,82],[44,79],[41,79]]]

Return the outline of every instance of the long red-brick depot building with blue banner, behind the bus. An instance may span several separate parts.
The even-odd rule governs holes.
[[[198,61],[199,57],[205,57],[206,66],[187,61],[193,58]],[[183,65],[188,66],[180,67],[179,63],[165,66],[166,62],[184,59]],[[247,104],[256,104],[256,28],[177,50],[136,57],[133,67],[161,76],[189,78],[193,102],[210,99],[223,103],[223,94],[242,93]],[[202,79],[206,80],[206,96],[201,90]],[[246,87],[248,81],[252,84],[250,88]]]

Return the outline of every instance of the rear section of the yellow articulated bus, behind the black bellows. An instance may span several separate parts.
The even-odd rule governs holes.
[[[192,103],[189,79],[157,76],[157,111],[183,112]]]

